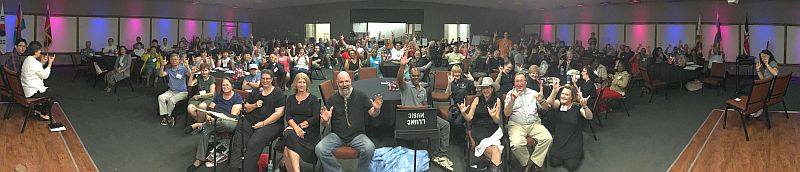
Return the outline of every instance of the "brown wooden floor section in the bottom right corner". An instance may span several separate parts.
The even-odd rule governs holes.
[[[747,120],[750,141],[745,141],[739,113],[713,110],[669,171],[800,171],[800,113],[770,113],[766,120]]]

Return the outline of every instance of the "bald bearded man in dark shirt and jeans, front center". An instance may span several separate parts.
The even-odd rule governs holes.
[[[341,164],[333,156],[333,150],[340,146],[350,146],[358,150],[357,171],[369,171],[375,144],[365,134],[367,114],[377,117],[381,112],[383,100],[380,95],[370,100],[366,94],[351,87],[350,75],[339,72],[336,75],[339,90],[328,100],[328,107],[320,109],[322,124],[331,127],[331,133],[322,138],[314,148],[324,171],[343,171]]]

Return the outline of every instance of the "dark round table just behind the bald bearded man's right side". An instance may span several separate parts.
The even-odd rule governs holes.
[[[373,98],[380,94],[383,97],[383,106],[378,117],[371,118],[372,126],[394,126],[394,114],[400,104],[400,91],[390,91],[388,84],[397,78],[370,78],[353,82],[353,89],[363,92],[367,97]]]

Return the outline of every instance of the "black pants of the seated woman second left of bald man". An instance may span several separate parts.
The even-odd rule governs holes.
[[[247,126],[242,126],[240,133],[241,136],[244,137],[244,144],[247,145],[245,147],[244,154],[244,169],[245,172],[251,171],[258,171],[258,159],[260,158],[261,151],[267,145],[271,144],[278,136],[280,136],[283,131],[283,124],[273,123],[258,129],[253,129],[253,124],[250,122],[244,121]],[[234,139],[237,137],[234,136]],[[241,139],[241,138],[239,138]],[[235,140],[236,142],[238,140]],[[236,144],[234,144],[236,145]],[[238,151],[234,151],[238,152]],[[269,155],[270,158],[275,157],[275,155]],[[232,155],[231,157],[240,157],[237,155]],[[238,158],[235,158],[238,159]],[[235,160],[234,159],[234,160]],[[238,163],[235,163],[238,162]],[[241,161],[231,161],[231,166],[238,167],[241,164]]]

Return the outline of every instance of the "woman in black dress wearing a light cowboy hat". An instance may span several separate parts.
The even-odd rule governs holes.
[[[474,156],[486,156],[492,161],[492,171],[502,171],[500,164],[503,145],[500,144],[500,138],[503,137],[503,130],[498,125],[500,98],[494,94],[499,86],[492,82],[492,78],[483,77],[478,80],[476,87],[482,94],[478,95],[470,105],[459,103],[458,107],[464,120],[471,123],[472,138],[477,142]]]

